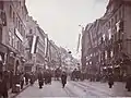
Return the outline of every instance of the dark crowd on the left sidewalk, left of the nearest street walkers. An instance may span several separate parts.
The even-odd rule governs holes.
[[[0,98],[8,98],[9,89],[12,93],[17,93],[23,89],[24,84],[33,84],[37,79],[35,72],[16,72],[13,71],[0,71]],[[19,85],[20,89],[16,87]]]

